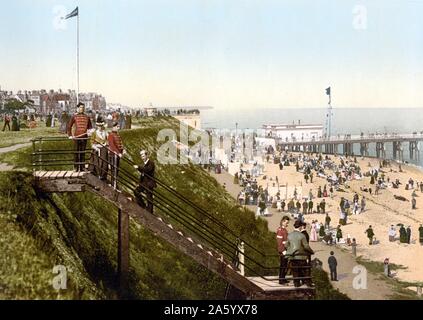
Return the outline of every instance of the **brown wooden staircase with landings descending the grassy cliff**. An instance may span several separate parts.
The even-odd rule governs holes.
[[[125,273],[129,268],[129,217],[140,223],[153,234],[167,241],[179,251],[222,277],[225,281],[243,293],[246,299],[312,299],[314,288],[280,285],[275,277],[270,281],[262,277],[245,277],[232,264],[214,249],[205,247],[196,239],[184,235],[171,224],[157,217],[134,200],[131,194],[117,191],[87,172],[73,171],[36,171],[34,172],[37,187],[46,193],[92,192],[108,200],[119,209],[119,261],[120,271]],[[122,215],[121,215],[122,213]],[[126,216],[126,218],[125,218]],[[122,220],[121,220],[122,217]],[[124,267],[122,267],[122,265]],[[123,277],[125,278],[125,277]]]

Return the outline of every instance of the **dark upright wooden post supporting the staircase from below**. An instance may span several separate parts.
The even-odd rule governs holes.
[[[128,295],[129,275],[129,215],[118,209],[118,277],[120,295],[126,298]]]

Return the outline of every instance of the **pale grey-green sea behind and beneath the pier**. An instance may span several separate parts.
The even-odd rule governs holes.
[[[325,125],[327,109],[323,108],[213,108],[201,110],[202,128],[261,129],[263,124],[321,124]],[[411,134],[423,131],[422,108],[333,108],[332,135],[369,133]],[[369,147],[375,155],[374,146]],[[373,149],[373,150],[372,150]],[[423,143],[419,143],[418,159],[410,159],[408,143],[403,145],[404,161],[423,167]],[[342,150],[342,147],[341,147]],[[360,154],[359,145],[354,153]],[[392,144],[386,144],[386,155],[392,159]]]

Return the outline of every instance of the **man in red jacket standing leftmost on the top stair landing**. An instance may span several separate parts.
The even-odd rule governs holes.
[[[68,125],[69,139],[74,140],[75,145],[75,171],[85,171],[85,150],[87,148],[87,131],[92,128],[91,120],[84,113],[85,105],[78,103],[78,113],[73,115]],[[75,131],[72,132],[75,126]]]

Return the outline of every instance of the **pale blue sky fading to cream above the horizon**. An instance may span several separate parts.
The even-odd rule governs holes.
[[[0,0],[2,90],[132,107],[423,107],[423,0]]]

